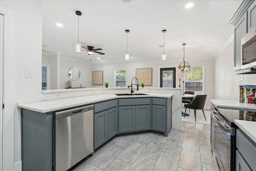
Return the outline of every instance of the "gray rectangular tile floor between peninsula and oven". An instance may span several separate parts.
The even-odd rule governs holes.
[[[158,133],[116,136],[73,171],[218,171],[210,125],[182,121],[168,137]]]

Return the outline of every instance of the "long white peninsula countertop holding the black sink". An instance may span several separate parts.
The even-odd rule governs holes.
[[[99,101],[110,100],[110,99],[117,99],[117,98],[124,98],[124,97],[164,97],[170,98],[172,97],[172,93],[144,93],[147,95],[121,95],[117,96],[114,94],[96,94],[96,95],[88,95],[88,96],[81,96],[81,97],[74,97],[74,98],[65,98],[65,99],[51,99],[51,100],[41,100],[41,101],[34,101],[34,102],[18,102],[17,106],[29,109],[33,111],[38,111],[41,113],[46,113],[49,111],[56,111],[59,109],[65,109],[68,107],[76,107],[79,105],[86,105],[91,103],[96,103]]]

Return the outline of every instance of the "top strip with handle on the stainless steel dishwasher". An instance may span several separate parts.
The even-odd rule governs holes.
[[[76,115],[79,113],[83,113],[86,111],[93,111],[94,109],[94,105],[88,105],[88,106],[83,106],[83,107],[78,107],[78,108],[74,108],[74,109],[68,109],[68,110],[64,110],[64,111],[59,111],[59,112],[54,112],[55,114],[55,119],[61,119],[64,117],[69,117],[72,115]]]

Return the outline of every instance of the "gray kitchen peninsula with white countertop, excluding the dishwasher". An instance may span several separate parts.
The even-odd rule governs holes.
[[[115,95],[112,92],[98,93],[97,91],[99,91],[99,89],[86,90],[88,94],[80,95],[79,97],[63,98],[65,93],[67,93],[67,91],[65,91],[63,94],[60,93],[59,95],[62,98],[18,103],[18,107],[21,107],[22,111],[23,169],[30,170],[41,168],[51,170],[54,168],[55,159],[52,157],[56,156],[54,151],[56,129],[54,125],[54,113],[58,111],[65,111],[91,104],[94,105],[94,149],[110,140],[116,134],[156,131],[158,133],[164,133],[164,135],[167,136],[172,127],[172,123],[175,123],[172,118],[180,117],[180,89],[172,90],[173,93],[171,93],[170,90],[164,90],[165,93],[157,92],[159,89],[157,89],[156,92],[145,92],[144,90],[143,93],[140,91],[138,95]],[[114,90],[115,89],[108,89],[108,91]],[[88,91],[90,91],[90,94]],[[118,91],[118,93],[120,93],[120,89],[118,89]],[[77,91],[75,90],[75,92]],[[78,92],[81,94],[81,91]],[[97,92],[97,94],[95,92]],[[176,98],[176,101],[172,103],[172,99],[175,99],[175,96],[179,98]],[[180,106],[174,106],[174,104],[179,101]],[[129,113],[131,109],[133,109],[132,113]],[[173,115],[172,111],[177,113],[177,109],[178,111],[180,109],[179,115]],[[145,115],[144,111],[148,111],[148,115]],[[108,121],[110,122],[108,123]],[[132,129],[127,129],[127,125],[128,127],[130,125],[126,123],[131,123]],[[148,123],[147,127],[145,127],[144,123]],[[179,123],[181,123],[181,120]],[[133,125],[135,125],[135,127]],[[118,127],[119,129],[116,129]],[[102,134],[104,132],[106,132],[106,134]],[[38,148],[40,154],[38,154]],[[35,165],[34,163],[38,164]]]

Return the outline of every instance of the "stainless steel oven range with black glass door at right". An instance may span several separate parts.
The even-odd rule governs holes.
[[[236,128],[234,119],[256,121],[256,111],[211,107],[211,147],[220,170],[236,170]]]

